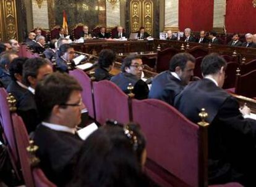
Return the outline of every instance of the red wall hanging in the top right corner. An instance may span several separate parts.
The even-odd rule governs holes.
[[[256,33],[256,8],[252,0],[227,0],[226,30],[228,33]]]

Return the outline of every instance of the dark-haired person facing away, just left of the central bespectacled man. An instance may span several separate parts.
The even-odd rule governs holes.
[[[98,68],[95,69],[95,81],[110,80],[112,75],[109,71],[112,70],[116,54],[111,49],[101,50],[98,58]]]

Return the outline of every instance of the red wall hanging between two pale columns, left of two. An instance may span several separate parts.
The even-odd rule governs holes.
[[[213,0],[179,0],[179,30],[212,30]]]

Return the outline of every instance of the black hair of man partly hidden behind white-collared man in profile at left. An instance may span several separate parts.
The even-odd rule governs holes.
[[[28,60],[28,58],[18,57],[14,58],[14,60],[12,61],[9,67],[9,73],[13,81],[17,81],[17,79],[15,78],[16,73],[22,76],[23,64],[26,60]]]

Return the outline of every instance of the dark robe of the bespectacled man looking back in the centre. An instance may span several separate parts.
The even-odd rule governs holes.
[[[148,98],[149,90],[147,83],[142,81],[142,79],[138,79],[131,73],[119,73],[111,78],[111,81],[126,94],[129,94],[127,87],[129,86],[129,83],[131,83],[132,86],[134,86],[133,93],[135,94],[135,98],[139,100]]]

